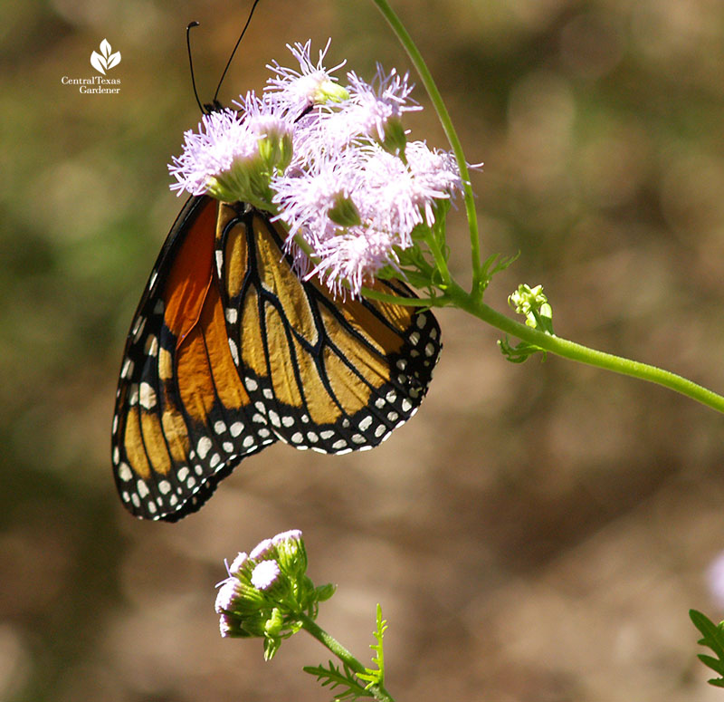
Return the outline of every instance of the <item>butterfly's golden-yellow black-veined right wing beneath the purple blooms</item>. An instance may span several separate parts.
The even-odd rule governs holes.
[[[346,453],[375,447],[414,414],[441,348],[432,313],[369,299],[340,302],[319,281],[300,282],[281,252],[286,233],[258,211],[222,206],[219,233],[233,361],[256,419],[276,438]],[[399,282],[375,285],[414,297]]]

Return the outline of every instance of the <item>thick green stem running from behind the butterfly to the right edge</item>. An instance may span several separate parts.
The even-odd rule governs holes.
[[[501,332],[516,336],[521,341],[528,341],[543,351],[550,351],[557,356],[562,356],[571,361],[579,361],[589,366],[613,370],[616,373],[662,385],[664,388],[669,388],[681,393],[681,395],[686,395],[686,397],[694,399],[711,409],[724,412],[724,397],[709,389],[702,388],[697,383],[682,378],[680,375],[676,375],[676,373],[672,373],[669,370],[662,370],[661,368],[650,366],[640,361],[630,361],[621,356],[614,356],[612,353],[595,351],[595,349],[589,349],[575,341],[567,341],[567,339],[561,339],[558,336],[551,336],[550,334],[539,332],[525,324],[511,320],[504,314],[496,312],[487,304],[483,303],[480,298],[466,293],[455,283],[452,283],[445,291],[445,297],[453,306],[459,307],[465,312],[478,317],[483,322],[488,322],[491,326],[500,329]]]

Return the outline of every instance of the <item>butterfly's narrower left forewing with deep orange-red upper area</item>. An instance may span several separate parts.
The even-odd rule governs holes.
[[[219,316],[217,216],[211,197],[186,202],[126,341],[112,463],[121,500],[139,517],[175,521],[195,511],[241,457],[276,440],[252,422]]]

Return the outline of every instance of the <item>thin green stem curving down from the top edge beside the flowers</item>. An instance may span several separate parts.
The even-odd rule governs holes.
[[[481,266],[481,244],[480,235],[478,232],[478,216],[475,212],[475,198],[472,194],[472,184],[470,182],[470,172],[468,171],[468,164],[465,160],[465,154],[462,151],[462,144],[458,139],[457,132],[452,126],[452,120],[448,114],[443,98],[440,95],[440,91],[437,90],[437,86],[433,80],[433,74],[427,68],[424,63],[423,55],[419,52],[417,47],[414,45],[413,39],[410,34],[407,33],[405,25],[400,22],[400,18],[395,14],[395,11],[390,7],[386,0],[372,0],[379,11],[385,16],[385,19],[392,27],[392,31],[397,35],[400,43],[402,43],[405,51],[413,62],[413,65],[417,72],[420,74],[424,89],[430,96],[430,100],[433,103],[433,107],[437,112],[437,116],[440,119],[440,123],[443,125],[443,130],[447,136],[452,152],[455,154],[455,159],[458,162],[458,168],[460,169],[460,176],[462,178],[462,188],[465,196],[465,212],[468,216],[468,226],[470,227],[470,243],[471,243],[471,257],[472,257],[472,292],[478,293],[481,285],[484,282],[484,276],[482,275]]]

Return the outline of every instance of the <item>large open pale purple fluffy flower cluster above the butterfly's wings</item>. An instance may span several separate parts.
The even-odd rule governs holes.
[[[357,295],[381,268],[399,270],[415,228],[432,227],[462,190],[459,169],[452,154],[407,140],[402,118],[420,108],[406,75],[378,66],[371,84],[348,72],[342,87],[331,73],[343,63],[323,65],[329,43],[316,63],[310,42],[289,48],[299,70],[272,63],[261,98],[249,93],[240,112],[205,115],[186,132],[172,188],[265,209],[287,226],[301,275]]]

